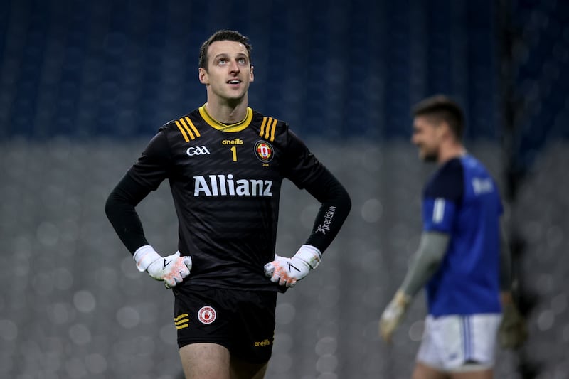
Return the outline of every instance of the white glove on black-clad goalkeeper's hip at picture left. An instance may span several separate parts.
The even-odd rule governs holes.
[[[181,283],[191,271],[191,257],[181,257],[179,251],[162,257],[150,245],[139,247],[134,260],[140,272],[147,271],[152,279],[164,281],[166,288]]]

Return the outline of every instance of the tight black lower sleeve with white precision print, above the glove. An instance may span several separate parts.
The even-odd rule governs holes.
[[[306,189],[321,203],[306,243],[324,252],[348,217],[351,199],[346,188],[325,167]]]

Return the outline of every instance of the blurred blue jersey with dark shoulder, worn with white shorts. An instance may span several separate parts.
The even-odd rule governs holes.
[[[427,283],[429,314],[499,313],[498,188],[484,166],[465,155],[447,161],[423,191],[423,230],[450,235],[441,265]]]

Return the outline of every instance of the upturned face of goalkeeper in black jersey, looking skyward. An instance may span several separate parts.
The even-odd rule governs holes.
[[[243,98],[253,81],[247,48],[235,41],[216,41],[208,48],[207,70],[199,69],[200,82],[210,95],[224,100]]]

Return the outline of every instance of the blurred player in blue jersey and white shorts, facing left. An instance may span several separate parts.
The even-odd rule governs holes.
[[[526,338],[511,296],[499,191],[464,149],[464,116],[456,102],[435,95],[415,105],[413,115],[411,141],[420,159],[438,167],[422,192],[418,251],[383,311],[380,334],[390,341],[426,286],[428,315],[413,379],[489,379],[496,341],[515,348]]]

